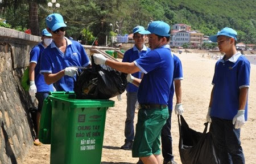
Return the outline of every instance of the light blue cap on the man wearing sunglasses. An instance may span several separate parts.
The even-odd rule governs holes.
[[[67,27],[64,23],[63,17],[60,14],[53,13],[46,17],[46,24],[51,31],[55,31],[61,27]]]

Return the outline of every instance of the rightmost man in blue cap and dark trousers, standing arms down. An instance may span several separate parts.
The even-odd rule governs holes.
[[[210,132],[220,163],[245,163],[240,131],[247,120],[250,62],[236,50],[234,29],[225,27],[209,38],[225,55],[215,65],[207,122],[212,122]]]

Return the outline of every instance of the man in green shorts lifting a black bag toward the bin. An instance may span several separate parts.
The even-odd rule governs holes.
[[[139,86],[132,155],[141,158],[143,163],[160,164],[160,133],[169,118],[167,104],[174,72],[174,59],[168,44],[170,26],[164,21],[152,21],[141,34],[148,34],[151,51],[134,62],[115,62],[102,54],[94,54],[93,58],[96,64],[106,64],[127,73],[127,81]],[[144,73],[142,79],[131,76],[139,71]]]

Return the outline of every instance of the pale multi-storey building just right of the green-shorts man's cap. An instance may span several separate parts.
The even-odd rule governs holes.
[[[171,31],[170,46],[181,47],[185,43],[189,43],[190,33],[187,31]]]

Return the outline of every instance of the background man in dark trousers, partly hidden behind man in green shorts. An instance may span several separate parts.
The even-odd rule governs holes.
[[[127,50],[125,55],[123,56],[122,62],[133,62],[136,59],[143,57],[148,51],[144,45],[146,36],[141,34],[141,32],[145,31],[144,27],[138,25],[133,29],[133,39],[134,46],[133,48]],[[132,76],[141,79],[141,72],[135,72]],[[134,113],[135,113],[135,103],[137,101],[137,91],[138,87],[129,83],[126,88],[126,96],[127,96],[127,107],[126,107],[126,120],[125,120],[125,144],[121,146],[121,149],[130,150],[133,146],[134,139]]]

